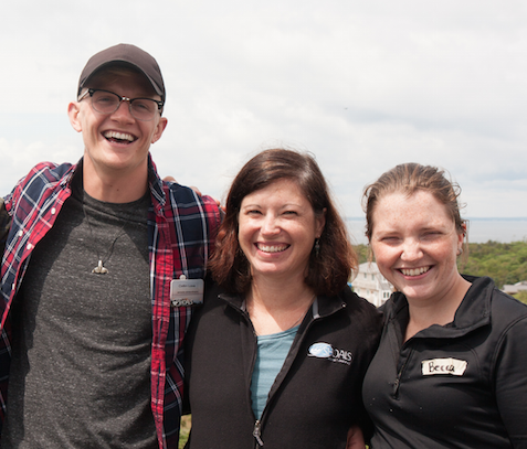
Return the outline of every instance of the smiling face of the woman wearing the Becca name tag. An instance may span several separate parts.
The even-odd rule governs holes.
[[[446,206],[425,191],[382,196],[372,214],[371,248],[381,274],[409,300],[441,300],[460,275],[463,244]]]

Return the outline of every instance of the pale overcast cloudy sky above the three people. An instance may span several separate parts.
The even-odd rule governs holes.
[[[76,162],[67,118],[96,52],[158,61],[162,177],[220,200],[259,151],[318,161],[341,213],[403,162],[447,170],[465,217],[527,217],[524,0],[18,0],[0,8],[0,194]]]

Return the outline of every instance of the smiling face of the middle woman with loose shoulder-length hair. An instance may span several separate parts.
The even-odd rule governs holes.
[[[238,238],[254,279],[304,281],[315,238],[325,224],[292,180],[275,181],[246,195],[240,207]]]

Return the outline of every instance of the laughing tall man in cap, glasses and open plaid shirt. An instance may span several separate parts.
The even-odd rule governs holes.
[[[2,449],[178,447],[181,303],[199,302],[220,212],[159,179],[165,100],[148,53],[95,54],[68,106],[82,159],[38,164],[6,197]]]

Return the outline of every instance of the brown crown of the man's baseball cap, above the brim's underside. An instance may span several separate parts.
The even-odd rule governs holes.
[[[94,54],[86,63],[81,77],[78,78],[77,97],[85,87],[89,77],[98,70],[112,64],[129,64],[143,73],[150,82],[154,90],[165,103],[165,83],[162,82],[161,70],[157,61],[138,46],[130,44],[118,44]]]

